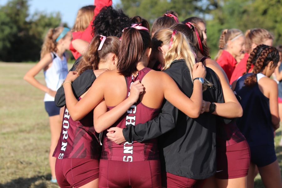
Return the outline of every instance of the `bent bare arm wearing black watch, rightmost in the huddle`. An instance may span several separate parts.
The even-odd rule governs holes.
[[[224,103],[215,103],[216,110],[212,114],[222,116],[225,118],[242,117],[243,109],[239,101],[235,97],[232,89],[230,88],[227,75],[225,74],[223,69],[220,67],[220,65],[217,64],[216,61],[211,59],[206,60],[206,66],[211,68],[217,74],[217,77],[222,86],[222,92],[225,101]],[[210,107],[210,102],[208,102],[208,104],[206,105],[206,112],[209,112],[209,107]]]

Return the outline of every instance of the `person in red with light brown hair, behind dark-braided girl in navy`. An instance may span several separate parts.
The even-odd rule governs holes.
[[[244,72],[246,72],[247,60],[253,49],[260,44],[272,46],[272,42],[274,39],[274,36],[269,31],[262,28],[247,30],[245,33],[245,37],[246,37],[245,40],[246,53],[241,61],[239,62],[237,61],[238,65],[236,66],[236,68],[232,73],[230,84],[232,84],[233,81],[237,80],[240,76],[243,75]],[[250,71],[252,70],[253,70],[253,65],[251,66]]]

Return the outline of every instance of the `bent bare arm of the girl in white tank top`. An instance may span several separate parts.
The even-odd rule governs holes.
[[[24,80],[29,82],[34,87],[40,89],[41,91],[44,91],[45,93],[48,93],[49,95],[55,97],[56,91],[53,91],[49,89],[47,86],[44,86],[41,84],[38,80],[36,80],[34,77],[40,72],[40,70],[44,69],[46,66],[48,66],[50,63],[52,63],[52,56],[51,54],[46,54],[34,67],[32,67],[25,75]]]

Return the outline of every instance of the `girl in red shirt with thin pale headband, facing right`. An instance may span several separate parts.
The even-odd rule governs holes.
[[[219,38],[219,51],[215,60],[225,71],[228,80],[237,65],[236,56],[245,50],[245,37],[239,29],[224,29]]]

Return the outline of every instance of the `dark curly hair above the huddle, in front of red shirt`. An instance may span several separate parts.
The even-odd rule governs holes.
[[[129,17],[122,9],[115,10],[112,6],[104,7],[93,21],[92,35],[121,37],[122,31],[130,27]]]

